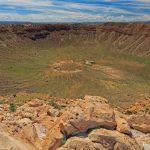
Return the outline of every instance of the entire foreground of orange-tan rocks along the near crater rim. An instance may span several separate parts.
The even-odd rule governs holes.
[[[99,96],[70,100],[65,107],[40,99],[17,109],[0,104],[0,149],[150,150],[146,109],[125,115]]]

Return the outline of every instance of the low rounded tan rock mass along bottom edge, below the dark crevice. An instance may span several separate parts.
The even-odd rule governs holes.
[[[118,131],[97,129],[88,137],[71,137],[58,150],[141,150],[131,137]]]

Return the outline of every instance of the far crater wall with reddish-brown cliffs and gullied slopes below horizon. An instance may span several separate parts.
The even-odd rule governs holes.
[[[16,41],[18,44],[39,39],[48,39],[58,45],[65,42],[79,44],[82,41],[86,44],[105,45],[108,49],[133,55],[150,56],[150,24],[110,22],[97,25],[0,25],[0,45],[3,47],[11,47]]]

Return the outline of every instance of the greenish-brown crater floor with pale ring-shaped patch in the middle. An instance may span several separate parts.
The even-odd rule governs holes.
[[[62,98],[101,95],[126,105],[150,95],[150,59],[101,45],[50,46],[46,40],[1,49],[0,94],[40,92]]]

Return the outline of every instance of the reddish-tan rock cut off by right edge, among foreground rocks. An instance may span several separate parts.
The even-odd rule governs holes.
[[[128,119],[129,125],[143,133],[150,133],[150,115],[133,115]]]

